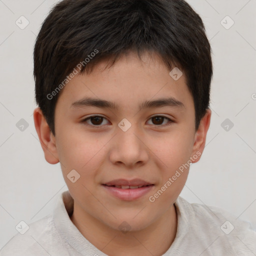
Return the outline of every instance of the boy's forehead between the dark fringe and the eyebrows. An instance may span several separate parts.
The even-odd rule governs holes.
[[[166,99],[172,106],[186,108],[191,105],[192,96],[185,75],[174,79],[176,77],[171,75],[171,70],[157,54],[144,53],[139,59],[130,52],[121,56],[114,65],[108,67],[108,64],[109,60],[103,60],[89,74],[75,75],[60,98],[70,107],[94,104],[117,109],[136,105],[141,109],[161,104],[159,99]]]

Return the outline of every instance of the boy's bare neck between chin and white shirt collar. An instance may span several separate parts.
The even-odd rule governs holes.
[[[162,255],[172,244],[177,231],[174,204],[146,228],[126,233],[95,219],[75,202],[70,219],[90,243],[111,256]]]

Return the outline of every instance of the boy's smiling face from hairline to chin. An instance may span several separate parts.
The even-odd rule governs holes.
[[[114,229],[159,219],[202,151],[185,75],[174,80],[152,56],[142,62],[130,52],[110,68],[102,61],[75,75],[55,108],[55,155],[76,209]]]

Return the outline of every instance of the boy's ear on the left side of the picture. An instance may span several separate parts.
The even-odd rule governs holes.
[[[39,107],[34,109],[34,126],[39,137],[39,141],[44,152],[45,160],[48,163],[55,164],[59,162],[55,137],[53,136],[48,123],[46,122]]]

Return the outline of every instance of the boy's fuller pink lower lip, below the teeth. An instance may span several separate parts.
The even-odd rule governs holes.
[[[122,189],[115,186],[107,186],[107,185],[102,185],[102,186],[105,187],[105,189],[115,197],[122,200],[126,200],[126,201],[132,201],[148,193],[154,185],[142,186],[142,187],[133,188],[133,189],[132,188]]]

